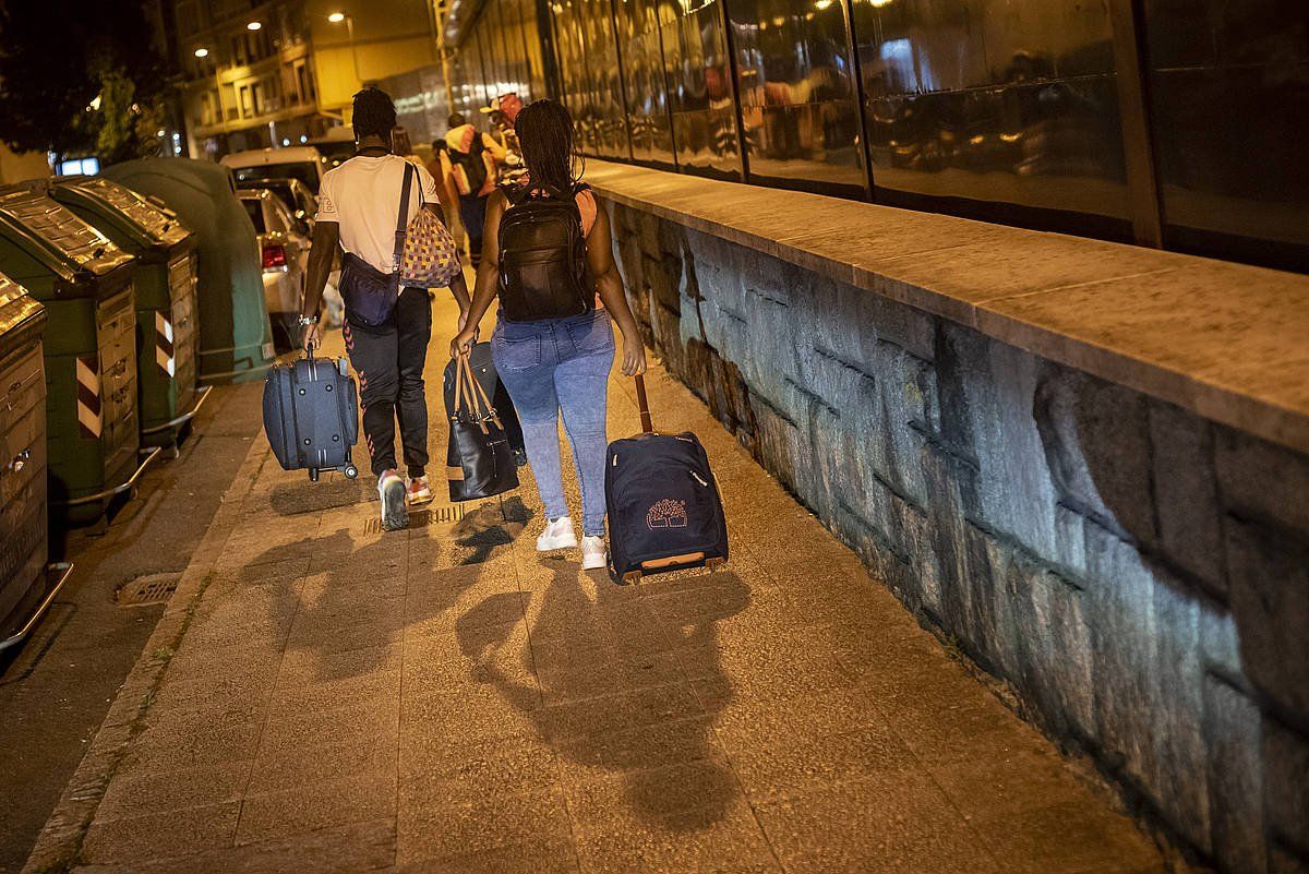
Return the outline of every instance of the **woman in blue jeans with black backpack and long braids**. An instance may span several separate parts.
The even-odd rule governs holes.
[[[528,461],[547,525],[537,548],[577,546],[559,461],[559,412],[581,480],[581,567],[603,568],[605,434],[614,322],[623,334],[623,373],[645,370],[645,349],[614,264],[609,218],[573,177],[572,119],[550,101],[516,123],[528,179],[487,204],[482,270],[469,321],[450,341],[467,355],[474,326],[500,296],[491,355],[522,421]],[[596,293],[603,307],[596,306]]]

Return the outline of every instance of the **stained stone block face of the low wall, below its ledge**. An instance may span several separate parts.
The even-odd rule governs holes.
[[[910,610],[1200,858],[1309,871],[1309,458],[606,208],[651,345]]]

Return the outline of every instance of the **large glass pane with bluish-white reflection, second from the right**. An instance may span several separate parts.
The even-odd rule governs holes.
[[[1105,4],[853,0],[853,29],[880,201],[1130,237]]]

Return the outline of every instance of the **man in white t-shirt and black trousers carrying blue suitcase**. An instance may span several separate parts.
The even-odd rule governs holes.
[[[433,211],[444,221],[436,182],[421,166],[391,154],[395,105],[385,92],[365,88],[355,94],[353,127],[356,154],[323,177],[318,191],[318,216],[301,324],[305,347],[317,345],[318,307],[332,256],[340,246],[347,258],[357,258],[384,275],[394,272],[395,229],[399,220],[404,169],[412,167],[418,184],[410,190],[408,225],[419,209]],[[450,283],[459,304],[459,328],[469,313],[469,290],[463,275]],[[390,319],[369,326],[351,318],[346,301],[343,326],[350,362],[359,374],[359,398],[364,408],[364,434],[377,491],[382,498],[382,527],[407,525],[407,504],[432,500],[427,481],[427,395],[423,362],[432,339],[432,301],[425,288],[403,288]],[[408,481],[395,463],[395,423]]]

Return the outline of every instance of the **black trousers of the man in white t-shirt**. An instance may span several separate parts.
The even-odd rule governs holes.
[[[432,298],[425,288],[401,289],[390,323],[355,324],[346,313],[342,328],[350,364],[359,374],[359,403],[364,408],[364,438],[373,475],[398,467],[395,423],[410,476],[427,468],[427,395],[423,364],[432,340]]]

